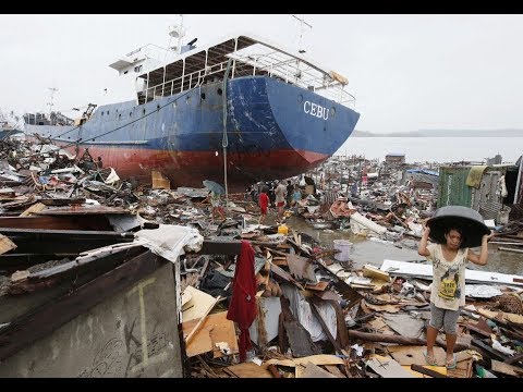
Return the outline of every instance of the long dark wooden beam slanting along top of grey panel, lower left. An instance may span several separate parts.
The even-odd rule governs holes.
[[[0,360],[48,335],[106,298],[130,287],[166,262],[168,262],[166,259],[150,250],[144,252],[83,286],[13,320],[0,331]]]

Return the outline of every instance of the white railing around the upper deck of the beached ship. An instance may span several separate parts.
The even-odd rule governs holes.
[[[327,99],[341,105],[354,103],[355,98],[349,91],[344,90],[346,83],[336,81],[327,73],[318,72],[312,68],[304,66],[300,59],[288,58],[281,61],[271,54],[260,57],[229,54],[234,61],[231,70],[232,77],[268,75],[277,77],[285,83],[293,84],[308,90],[315,91]],[[228,61],[212,65],[206,65],[204,69],[188,74],[149,86],[138,93],[138,102],[144,103],[158,98],[183,93],[187,89],[197,87],[212,79],[222,79],[227,69]]]

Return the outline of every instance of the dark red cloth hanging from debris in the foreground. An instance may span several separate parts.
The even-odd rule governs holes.
[[[240,362],[245,362],[246,352],[252,347],[248,327],[256,317],[256,275],[254,274],[254,249],[251,243],[242,240],[242,248],[236,258],[232,283],[232,297],[227,313],[229,320],[240,329]]]

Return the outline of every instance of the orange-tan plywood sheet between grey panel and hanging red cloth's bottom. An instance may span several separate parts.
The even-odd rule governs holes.
[[[199,319],[182,323],[183,334],[188,334]],[[224,354],[216,346],[218,342],[227,342],[231,350],[229,354],[238,354],[238,339],[234,330],[234,322],[227,319],[227,311],[208,315],[185,347],[187,357],[198,354],[214,352],[214,357],[221,357]]]

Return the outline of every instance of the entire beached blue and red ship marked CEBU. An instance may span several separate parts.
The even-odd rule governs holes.
[[[212,180],[243,191],[319,166],[353,132],[360,113],[335,71],[250,35],[193,44],[163,63],[150,56],[157,47],[134,50],[110,65],[135,75],[134,99],[72,125],[26,121],[26,134],[88,148],[121,177],[150,182],[157,170],[171,185]]]

